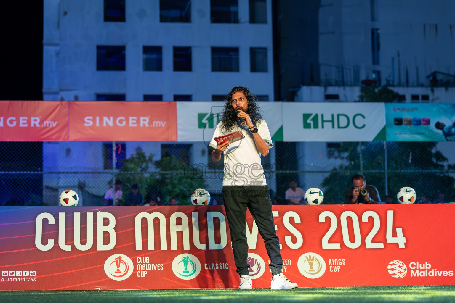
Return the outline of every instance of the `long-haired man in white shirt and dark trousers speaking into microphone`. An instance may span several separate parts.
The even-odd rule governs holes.
[[[267,123],[260,119],[257,98],[248,88],[236,86],[227,95],[222,120],[218,123],[210,146],[212,159],[217,162],[223,155],[223,199],[227,222],[231,232],[231,243],[237,273],[240,275],[239,289],[251,289],[252,272],[248,259],[248,243],[245,233],[247,208],[253,215],[271,263],[272,289],[297,288],[286,278],[281,269],[283,258],[272,216],[268,186],[261,165],[261,154],[267,156],[273,146]],[[242,127],[240,118],[246,122]],[[220,141],[215,138],[240,131],[244,138],[238,141]]]

